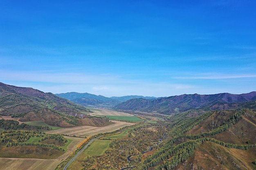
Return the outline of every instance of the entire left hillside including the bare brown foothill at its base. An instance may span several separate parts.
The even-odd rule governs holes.
[[[83,112],[92,113],[84,106],[52,93],[0,83],[1,115],[18,117],[23,122],[44,121],[48,125],[59,127],[110,124],[101,118],[90,118]]]

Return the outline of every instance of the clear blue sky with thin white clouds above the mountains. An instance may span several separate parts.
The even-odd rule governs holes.
[[[0,2],[0,82],[52,93],[256,91],[254,0]]]

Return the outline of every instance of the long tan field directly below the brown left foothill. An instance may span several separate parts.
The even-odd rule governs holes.
[[[77,126],[72,128],[63,128],[58,130],[52,130],[47,133],[51,134],[65,134],[69,136],[76,135],[77,137],[88,137],[92,135],[97,135],[98,133],[105,133],[105,132],[113,132],[125,126],[134,125],[132,123],[123,122],[123,121],[113,121],[115,124],[110,124],[108,126],[103,127],[95,127],[95,126]]]

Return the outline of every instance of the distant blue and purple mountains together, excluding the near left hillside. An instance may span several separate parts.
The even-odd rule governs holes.
[[[133,110],[164,114],[180,113],[191,109],[223,110],[237,108],[240,103],[256,100],[256,92],[246,94],[219,93],[213,95],[184,94],[170,97],[144,97],[130,95],[104,97],[89,93],[61,93],[59,97],[89,107],[105,107],[116,110]]]

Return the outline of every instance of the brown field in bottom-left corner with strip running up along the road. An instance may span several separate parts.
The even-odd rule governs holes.
[[[57,159],[19,159],[19,158],[0,158],[0,169],[2,170],[54,170],[58,164],[64,161],[76,146],[83,141],[83,138],[66,137],[73,141],[67,146],[67,152]]]

